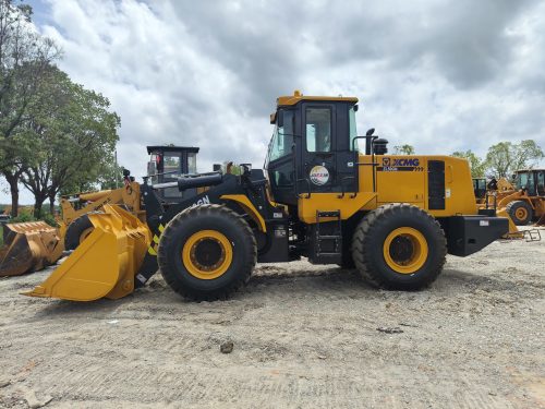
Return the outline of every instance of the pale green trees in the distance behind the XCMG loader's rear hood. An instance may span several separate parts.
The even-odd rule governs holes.
[[[393,146],[395,155],[414,155],[412,145]],[[471,149],[458,151],[451,154],[468,159],[473,178],[507,178],[519,169],[531,169],[545,157],[543,149],[533,140],[519,143],[499,142],[488,147],[484,158],[479,157]]]

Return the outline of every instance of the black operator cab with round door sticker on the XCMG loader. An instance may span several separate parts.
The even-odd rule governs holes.
[[[358,136],[356,104],[355,97],[306,97],[298,91],[278,98],[264,166],[276,202],[295,206],[301,194],[358,191],[358,139],[365,137]],[[367,142],[375,139],[371,134]],[[375,147],[385,153],[387,141],[379,141]]]

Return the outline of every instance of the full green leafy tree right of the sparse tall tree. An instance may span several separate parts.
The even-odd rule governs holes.
[[[59,192],[93,189],[100,179],[109,179],[120,125],[107,98],[72,83],[55,67],[40,93],[44,104],[31,110],[26,123],[36,160],[21,179],[34,194],[35,217],[41,216],[48,199],[53,212]]]

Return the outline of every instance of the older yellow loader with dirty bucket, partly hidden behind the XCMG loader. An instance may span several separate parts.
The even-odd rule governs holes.
[[[150,155],[147,176],[154,183],[168,183],[182,175],[196,172],[198,147],[148,146]],[[93,231],[88,215],[102,212],[104,206],[118,205],[138,220],[146,221],[142,208],[140,183],[130,172],[123,172],[123,187],[114,190],[83,192],[62,196],[59,228],[45,221],[3,225],[3,246],[0,249],[0,276],[13,276],[39,270],[55,264],[64,250],[75,250]],[[196,194],[195,189],[180,192],[164,189],[159,192],[161,203],[175,203]]]

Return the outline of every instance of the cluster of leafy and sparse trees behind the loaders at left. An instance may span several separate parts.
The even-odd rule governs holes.
[[[0,176],[19,213],[19,187],[34,195],[34,216],[59,194],[109,188],[120,118],[108,98],[71,81],[60,48],[39,35],[32,8],[0,0]]]

